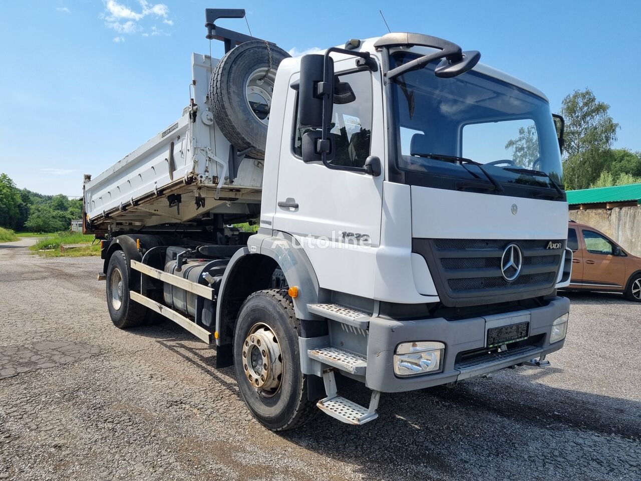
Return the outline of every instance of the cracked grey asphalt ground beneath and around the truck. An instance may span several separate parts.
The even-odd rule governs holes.
[[[620,296],[571,294],[546,369],[382,394],[367,425],[319,413],[274,434],[215,350],[169,322],[113,327],[99,258],[28,244],[0,244],[0,479],[641,479],[641,305]]]

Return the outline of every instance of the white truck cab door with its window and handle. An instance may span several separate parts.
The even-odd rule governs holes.
[[[351,58],[335,62],[338,80],[348,82],[354,99],[335,103],[330,135],[335,151],[328,168],[303,162],[296,96],[288,96],[283,122],[273,228],[300,243],[320,287],[365,298],[374,293],[380,245],[383,174],[363,166],[367,156],[385,158],[380,69],[360,69]],[[290,82],[296,81],[297,75]],[[351,168],[348,170],[347,168]]]

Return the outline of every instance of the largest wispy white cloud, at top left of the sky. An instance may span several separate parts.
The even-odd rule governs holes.
[[[141,10],[130,8],[124,3],[119,3],[117,0],[107,0],[105,3],[105,10],[101,14],[104,19],[104,24],[108,28],[113,28],[117,33],[137,33],[144,30],[138,22],[142,21],[145,17],[156,17],[163,19],[167,25],[173,25],[174,21],[169,19],[169,7],[164,3],[149,3],[146,0],[138,0]],[[160,35],[160,31],[156,28],[152,29],[151,35]],[[149,34],[142,34],[144,37],[149,37]],[[120,38],[120,37],[116,37]],[[116,41],[116,40],[114,40]],[[118,40],[120,41],[120,40]]]

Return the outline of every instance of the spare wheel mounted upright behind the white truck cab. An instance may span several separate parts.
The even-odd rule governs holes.
[[[231,49],[213,69],[213,118],[235,148],[252,148],[250,157],[265,158],[276,69],[288,56],[275,44],[252,40]]]

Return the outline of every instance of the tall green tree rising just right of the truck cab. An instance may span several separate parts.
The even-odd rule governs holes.
[[[574,90],[563,99],[563,171],[569,189],[587,188],[604,171],[619,128],[608,114],[609,109],[608,104],[597,101],[590,89]]]

